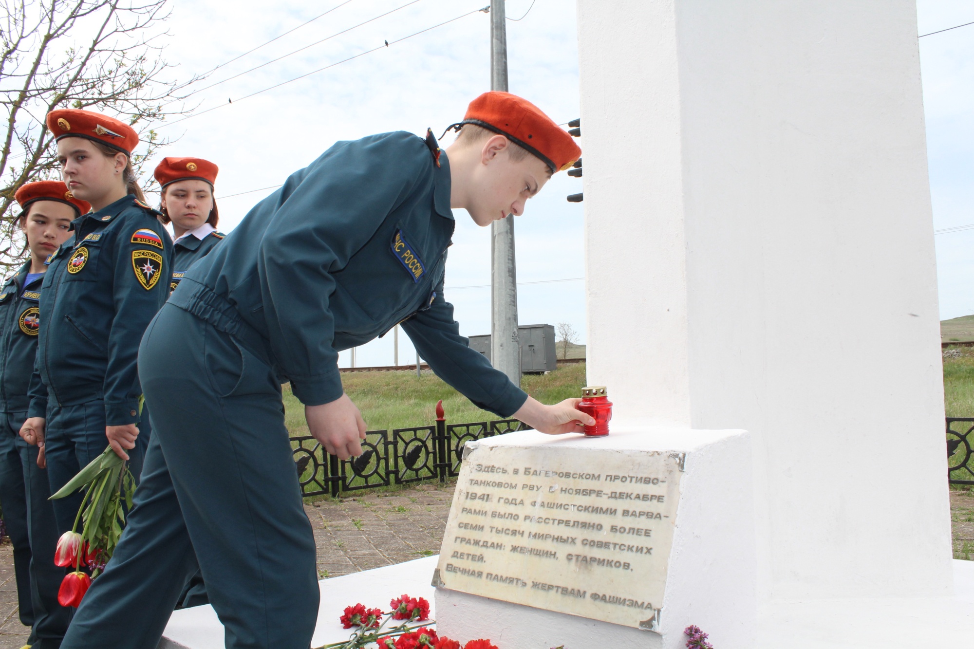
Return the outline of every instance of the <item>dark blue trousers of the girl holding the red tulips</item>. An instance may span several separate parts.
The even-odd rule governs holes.
[[[138,483],[142,473],[142,461],[152,436],[152,427],[146,409],[142,409],[141,422],[135,447],[129,451],[129,470]],[[57,406],[49,402],[48,418],[44,435],[44,452],[48,460],[48,480],[51,493],[67,484],[88,463],[104,452],[108,446],[105,437],[105,402],[89,401],[80,405]],[[81,507],[80,491],[51,501],[55,507],[57,530],[60,534],[71,529],[78,508]],[[79,521],[79,532],[81,522]]]

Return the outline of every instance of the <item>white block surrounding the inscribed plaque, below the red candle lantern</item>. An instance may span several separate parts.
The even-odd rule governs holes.
[[[566,466],[580,466],[581,459],[581,466],[596,473],[605,472],[609,460],[620,451],[631,458],[633,464],[641,454],[661,452],[684,457],[676,524],[656,631],[449,590],[451,583],[461,584],[461,578],[444,575],[446,588],[436,590],[437,628],[444,634],[465,640],[489,637],[501,649],[560,644],[568,649],[592,646],[678,649],[686,643],[683,630],[689,625],[697,625],[710,632],[721,649],[750,649],[753,646],[757,618],[756,565],[751,446],[747,433],[663,427],[613,428],[612,434],[604,439],[548,436],[532,431],[468,442],[464,453],[465,473],[461,474],[458,483],[451,522],[461,509],[459,499],[466,472],[472,472],[471,465],[475,462],[493,461],[485,450],[503,447],[518,449],[524,457],[531,458],[534,466],[561,470]],[[603,478],[607,492],[612,488],[633,488],[618,483],[613,487],[607,478]],[[602,487],[603,482],[597,486]],[[543,513],[543,510],[539,512]],[[525,523],[520,527],[528,531],[533,529]],[[608,534],[605,538],[613,539]],[[444,548],[446,546],[444,542]],[[442,555],[447,556],[445,551]],[[441,571],[443,565],[444,561],[441,561]],[[571,562],[563,562],[561,566],[559,570],[564,575],[557,583],[575,583],[579,569],[573,568]],[[531,569],[528,566],[523,572],[511,574],[530,583],[539,578]],[[614,592],[631,593],[628,596],[638,599],[643,598],[641,588],[645,586],[640,582],[640,574],[636,573],[628,580],[618,582]],[[531,592],[530,589],[523,591]],[[588,603],[594,613],[597,605]]]

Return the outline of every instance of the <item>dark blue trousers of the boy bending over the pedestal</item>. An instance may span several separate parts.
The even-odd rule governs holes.
[[[115,555],[65,649],[155,649],[197,567],[232,649],[308,649],[315,539],[274,372],[229,334],[166,304],[139,349],[153,437]]]

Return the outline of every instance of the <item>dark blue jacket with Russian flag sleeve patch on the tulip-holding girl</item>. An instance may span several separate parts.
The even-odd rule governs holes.
[[[166,302],[172,272],[158,213],[130,194],[72,221],[74,239],[51,256],[41,290],[29,416],[45,416],[49,399],[104,400],[106,425],[139,421],[138,344]]]

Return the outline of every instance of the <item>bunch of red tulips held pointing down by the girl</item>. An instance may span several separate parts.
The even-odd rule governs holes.
[[[61,581],[57,601],[61,606],[78,606],[88,592],[92,580],[105,569],[105,563],[115,552],[126,512],[131,510],[135,492],[135,478],[126,461],[109,446],[51,499],[64,498],[78,489],[85,489],[70,532],[57,540],[55,565],[74,566]],[[82,523],[79,533],[78,524]],[[91,571],[91,576],[82,568]]]

